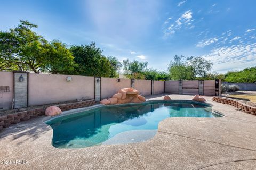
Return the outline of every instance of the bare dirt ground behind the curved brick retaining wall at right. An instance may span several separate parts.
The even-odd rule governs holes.
[[[222,94],[222,96],[240,100],[241,102],[256,107],[256,91],[236,91],[236,92],[227,92]]]

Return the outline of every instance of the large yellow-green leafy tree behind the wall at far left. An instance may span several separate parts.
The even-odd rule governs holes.
[[[17,27],[7,32],[0,31],[0,70],[71,72],[74,58],[65,44],[59,41],[49,43],[33,28],[37,25],[20,20]]]

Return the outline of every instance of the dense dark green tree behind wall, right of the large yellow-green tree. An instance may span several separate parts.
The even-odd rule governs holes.
[[[92,42],[90,45],[72,46],[70,52],[78,66],[76,73],[87,76],[109,77],[111,63],[102,55],[102,50]]]

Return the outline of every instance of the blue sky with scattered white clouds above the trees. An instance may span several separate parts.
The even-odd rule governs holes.
[[[181,54],[203,56],[219,73],[256,66],[254,0],[0,2],[2,31],[28,20],[48,40],[95,41],[104,55],[157,70]]]

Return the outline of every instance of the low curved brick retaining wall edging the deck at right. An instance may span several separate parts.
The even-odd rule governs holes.
[[[242,103],[240,101],[232,100],[229,98],[223,98],[223,97],[213,97],[212,100],[218,103],[235,106],[236,108],[241,109],[241,111],[245,113],[256,115],[256,107],[248,106],[245,103]]]

